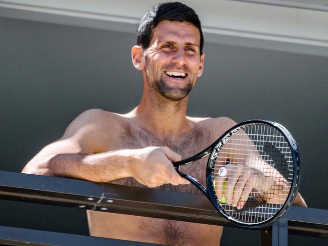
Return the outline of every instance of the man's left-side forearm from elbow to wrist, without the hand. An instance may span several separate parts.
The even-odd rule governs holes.
[[[23,173],[108,182],[130,176],[133,158],[126,150],[102,154],[52,154],[33,158]]]

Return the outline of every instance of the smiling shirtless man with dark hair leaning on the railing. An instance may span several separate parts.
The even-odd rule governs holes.
[[[203,73],[203,34],[197,14],[180,3],[160,4],[143,17],[134,67],[142,72],[140,104],[127,114],[99,109],[79,115],[45,146],[24,173],[201,193],[172,166],[205,149],[235,122],[186,116],[188,93]],[[206,160],[181,170],[205,183]],[[305,206],[297,196],[297,205]],[[87,211],[93,236],[170,245],[219,245],[222,227]]]

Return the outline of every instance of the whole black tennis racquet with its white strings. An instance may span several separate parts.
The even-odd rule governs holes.
[[[206,156],[206,187],[178,171]],[[264,120],[233,126],[205,150],[173,166],[222,216],[243,227],[278,220],[292,206],[300,182],[296,141],[282,125]]]

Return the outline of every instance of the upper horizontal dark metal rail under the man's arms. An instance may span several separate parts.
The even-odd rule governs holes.
[[[68,178],[0,171],[0,199],[236,227],[202,194]],[[328,210],[293,206],[282,219],[289,234],[328,238]]]

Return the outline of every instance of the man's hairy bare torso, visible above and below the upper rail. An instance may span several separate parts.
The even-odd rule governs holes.
[[[118,137],[110,145],[108,151],[120,149],[141,149],[147,146],[168,146],[172,151],[180,154],[182,159],[191,157],[204,150],[218,136],[201,124],[195,124],[194,129],[179,137],[178,140],[160,139],[152,133],[132,124],[128,120],[121,122]],[[197,178],[205,183],[207,160],[180,167],[180,171]],[[115,184],[140,186],[134,178],[123,178],[112,181]],[[180,192],[201,193],[193,184],[170,185],[165,184],[158,189]],[[134,241],[161,243],[168,245],[219,245],[222,227],[204,225],[191,222],[155,219],[131,215],[121,215],[88,211],[90,234],[94,236],[119,238]]]

